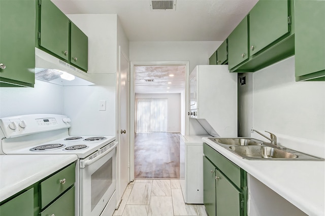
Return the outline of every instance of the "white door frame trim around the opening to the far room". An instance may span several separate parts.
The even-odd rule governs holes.
[[[189,82],[189,61],[131,61],[131,69],[130,69],[130,115],[129,115],[129,131],[130,135],[130,148],[129,148],[129,177],[130,181],[134,181],[134,143],[135,143],[135,101],[136,101],[136,93],[135,93],[135,73],[134,73],[134,66],[136,65],[145,65],[145,66],[154,66],[154,65],[185,65],[185,107],[183,112],[183,118],[185,122],[184,124],[184,132],[183,135],[188,135],[188,118],[187,118],[187,111],[188,111],[188,82]]]

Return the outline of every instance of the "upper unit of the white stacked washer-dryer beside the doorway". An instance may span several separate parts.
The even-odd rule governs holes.
[[[220,136],[237,137],[237,74],[228,65],[198,65],[189,75],[189,135],[205,119]]]

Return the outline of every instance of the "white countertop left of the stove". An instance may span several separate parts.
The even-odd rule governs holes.
[[[76,155],[0,155],[0,201],[76,160]]]

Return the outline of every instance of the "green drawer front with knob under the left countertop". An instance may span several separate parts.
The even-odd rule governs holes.
[[[73,163],[41,182],[41,209],[75,183],[75,167],[76,164]],[[61,183],[60,181],[63,182]]]

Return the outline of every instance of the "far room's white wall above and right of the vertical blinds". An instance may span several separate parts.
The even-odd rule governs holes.
[[[136,98],[167,98],[167,132],[181,132],[181,94],[136,94]]]

